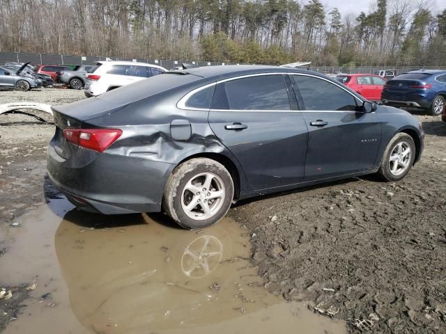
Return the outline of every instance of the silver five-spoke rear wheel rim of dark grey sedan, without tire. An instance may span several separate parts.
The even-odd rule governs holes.
[[[214,216],[224,202],[224,184],[213,173],[192,177],[181,194],[181,207],[191,219],[203,221]]]

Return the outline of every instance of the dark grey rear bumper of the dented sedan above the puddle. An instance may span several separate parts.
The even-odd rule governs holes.
[[[102,214],[159,212],[164,185],[174,165],[82,149],[78,167],[49,145],[47,170],[54,186],[79,209]]]

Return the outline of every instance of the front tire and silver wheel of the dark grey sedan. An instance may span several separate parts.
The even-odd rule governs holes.
[[[399,181],[409,173],[415,160],[416,148],[408,134],[395,135],[385,149],[378,175],[385,181]]]

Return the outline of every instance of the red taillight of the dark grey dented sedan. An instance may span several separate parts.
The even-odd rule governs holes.
[[[104,152],[123,134],[120,129],[65,129],[63,135],[70,143]]]

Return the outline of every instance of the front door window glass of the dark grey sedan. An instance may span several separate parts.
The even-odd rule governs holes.
[[[357,99],[329,81],[303,75],[290,77],[293,86],[298,88],[298,93],[302,96],[307,110],[355,111],[357,109]]]

